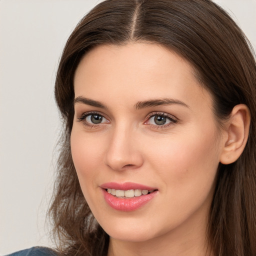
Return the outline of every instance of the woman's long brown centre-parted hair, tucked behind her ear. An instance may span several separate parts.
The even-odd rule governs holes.
[[[70,35],[55,82],[64,131],[49,210],[61,254],[106,255],[109,242],[83,197],[70,153],[75,69],[96,45],[138,40],[164,45],[193,65],[213,97],[219,122],[236,104],[250,109],[250,133],[242,155],[232,164],[219,164],[207,240],[214,255],[256,255],[255,59],[240,28],[210,0],[105,0]]]

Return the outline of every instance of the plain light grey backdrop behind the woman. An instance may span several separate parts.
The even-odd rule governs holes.
[[[55,72],[68,35],[99,1],[0,0],[0,254],[51,244],[44,220],[60,130]],[[215,2],[256,48],[256,0]]]

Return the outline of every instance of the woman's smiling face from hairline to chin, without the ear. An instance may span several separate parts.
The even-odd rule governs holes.
[[[72,158],[110,237],[204,238],[224,145],[191,65],[158,44],[98,46],[79,63],[74,91]]]

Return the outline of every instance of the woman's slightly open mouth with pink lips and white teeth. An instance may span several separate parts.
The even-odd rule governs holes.
[[[106,203],[115,210],[132,211],[149,202],[158,190],[146,185],[108,182],[100,186]]]

